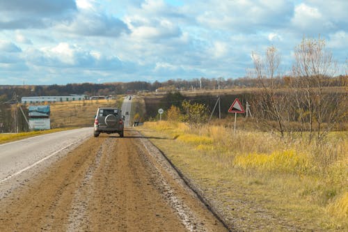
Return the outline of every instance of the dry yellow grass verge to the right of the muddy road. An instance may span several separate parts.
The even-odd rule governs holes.
[[[258,218],[252,209],[260,206],[299,230],[348,229],[347,132],[331,133],[317,146],[302,138],[280,141],[267,132],[233,136],[230,128],[214,125],[190,129],[161,121],[139,129],[166,138],[152,141],[214,201],[226,209],[244,202],[240,210],[227,210],[229,217],[255,217],[264,223],[260,231],[287,231]]]

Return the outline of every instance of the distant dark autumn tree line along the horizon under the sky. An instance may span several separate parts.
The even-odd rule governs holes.
[[[287,87],[295,77],[274,76],[272,84]],[[165,82],[114,82],[105,84],[66,84],[66,85],[26,85],[26,86],[0,86],[0,102],[13,100],[15,97],[20,100],[24,96],[55,96],[55,95],[119,95],[127,93],[141,92],[175,92],[175,91],[194,91],[194,90],[213,90],[228,88],[253,88],[260,86],[260,80],[256,77],[240,77],[237,79],[218,78],[194,78],[170,79]],[[336,77],[323,77],[325,86],[342,86],[342,82],[347,82],[347,76],[340,75]],[[270,80],[264,80],[270,82]]]

